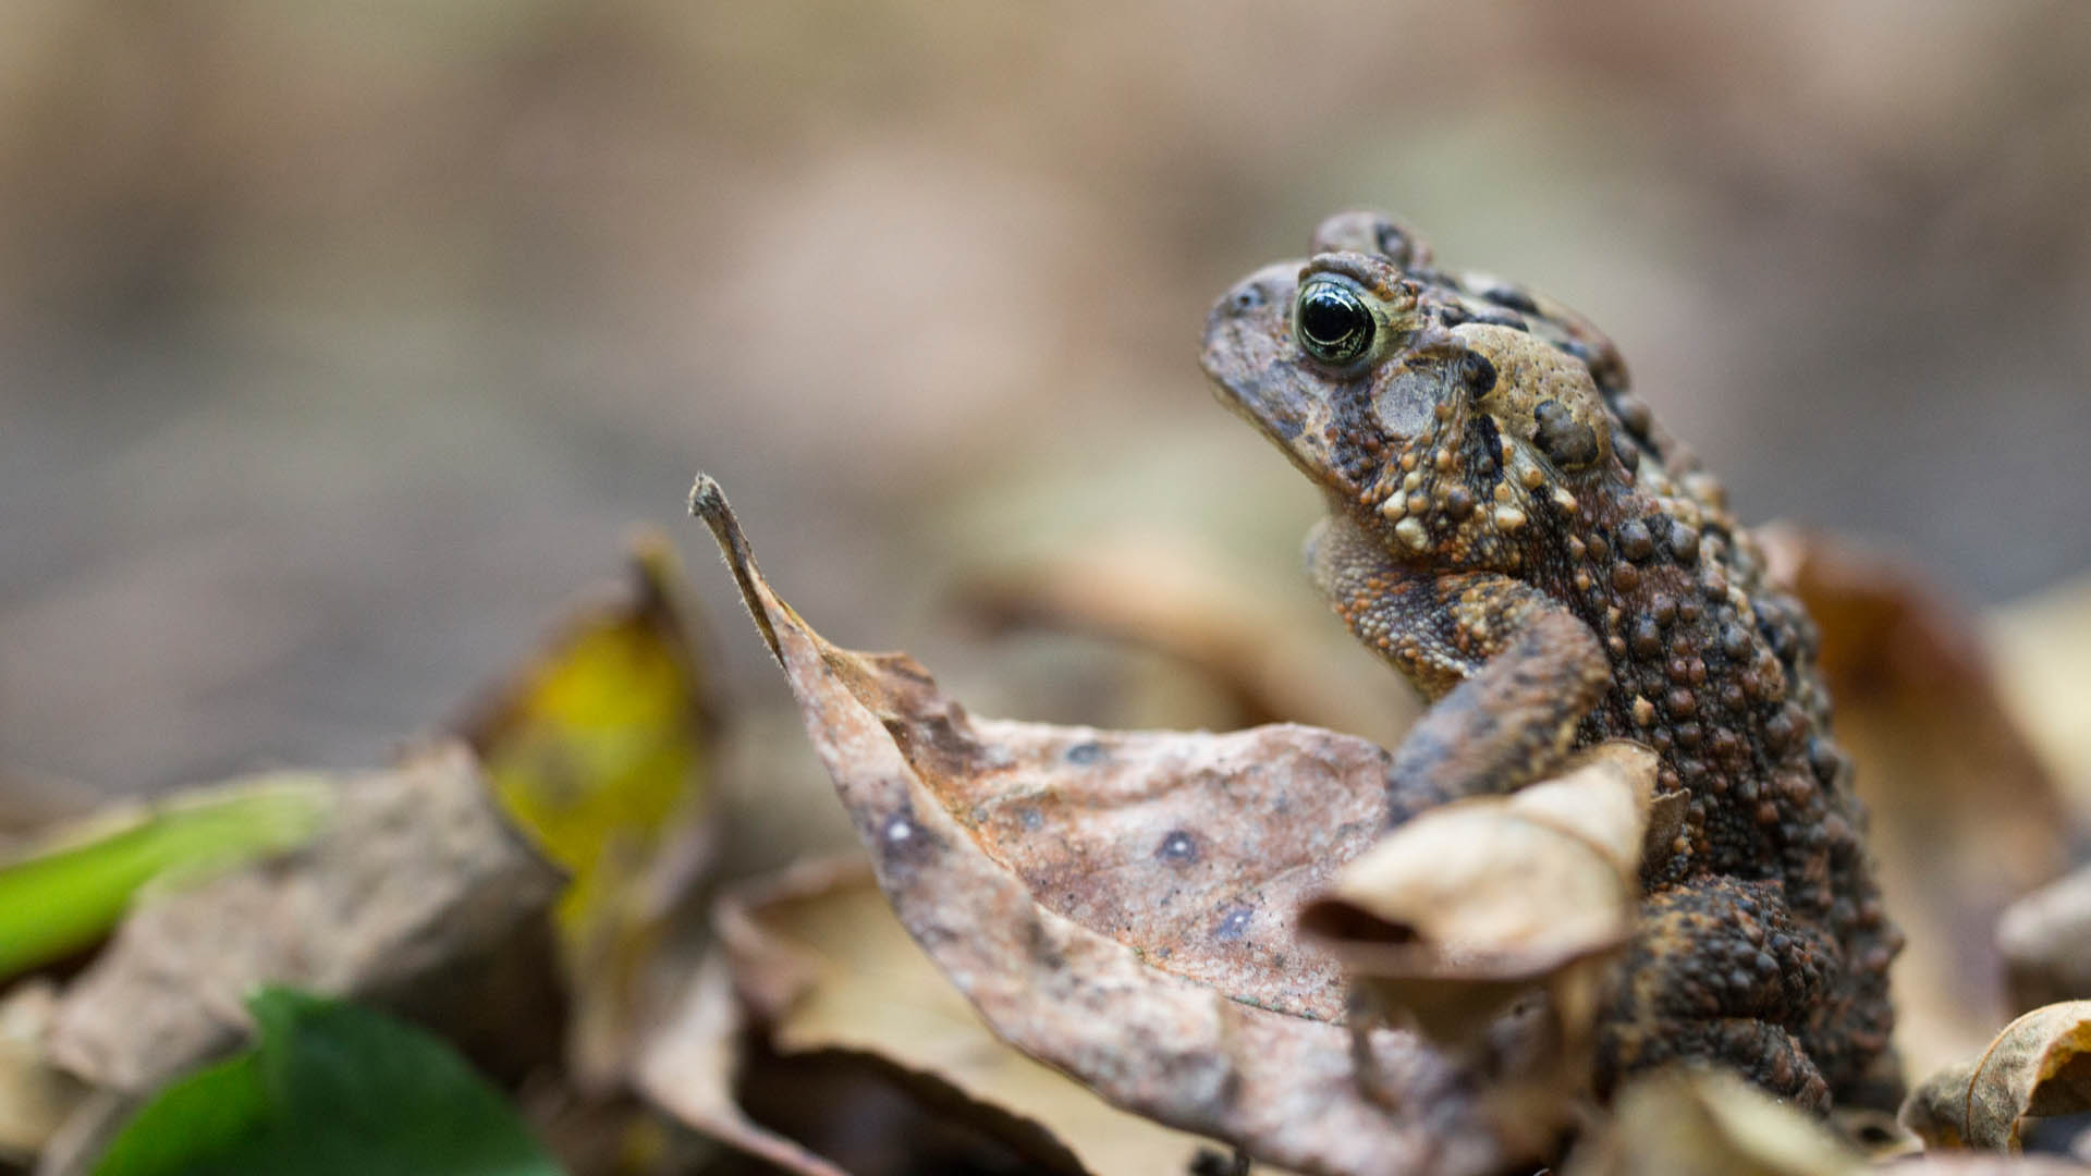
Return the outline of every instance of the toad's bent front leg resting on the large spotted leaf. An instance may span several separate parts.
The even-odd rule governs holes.
[[[1342,624],[1430,699],[1395,751],[1388,824],[1541,778],[1612,682],[1598,634],[1531,584],[1403,567],[1345,517],[1307,538],[1307,565]]]

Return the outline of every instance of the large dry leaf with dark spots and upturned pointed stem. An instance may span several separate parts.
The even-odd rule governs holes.
[[[1376,1030],[1357,1080],[1301,900],[1378,829],[1384,751],[1309,728],[974,722],[907,657],[822,640],[719,538],[901,925],[999,1038],[1117,1107],[1305,1172],[1495,1172],[1462,1073]]]

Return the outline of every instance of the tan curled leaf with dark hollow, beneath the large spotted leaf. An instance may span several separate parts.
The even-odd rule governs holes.
[[[937,1107],[939,1120],[999,1140],[1027,1170],[1184,1172],[1202,1143],[1112,1109],[995,1040],[907,937],[868,862],[809,862],[736,887],[717,902],[715,925],[732,988],[774,1053],[876,1059],[901,1084],[926,1086],[924,1103]],[[694,990],[688,1013],[707,1017],[707,998]],[[717,1027],[703,1034],[717,1038]],[[738,1107],[717,1099],[730,1086],[721,1080],[728,1050],[696,1042],[690,1025],[673,1023],[648,1050],[640,1073],[650,1096],[692,1126],[778,1161],[780,1140],[751,1147]],[[830,1172],[826,1161],[784,1166]]]

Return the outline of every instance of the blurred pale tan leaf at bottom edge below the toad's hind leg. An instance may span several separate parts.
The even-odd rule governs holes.
[[[1821,1120],[1723,1069],[1671,1067],[1627,1082],[1614,1117],[1568,1176],[1851,1176],[1865,1159]]]

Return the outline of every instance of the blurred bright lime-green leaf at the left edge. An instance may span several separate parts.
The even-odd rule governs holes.
[[[332,787],[322,776],[234,781],[105,812],[0,864],[0,979],[77,952],[109,933],[157,877],[226,868],[303,845]]]

